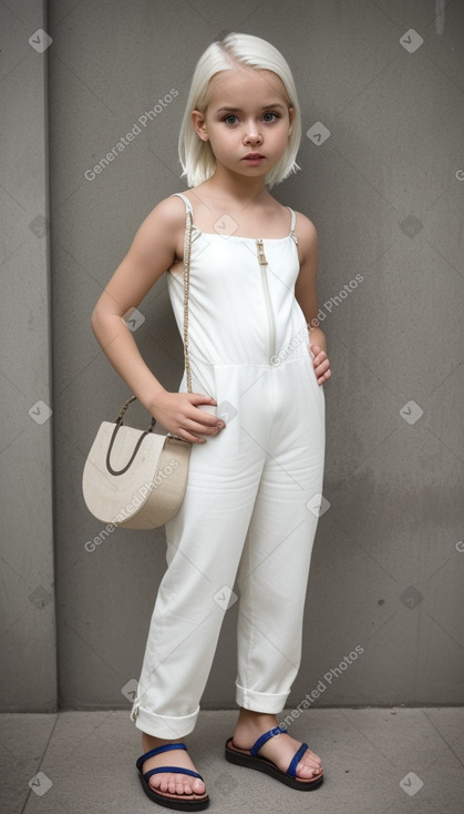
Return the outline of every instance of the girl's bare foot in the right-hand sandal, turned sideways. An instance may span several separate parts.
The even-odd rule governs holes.
[[[234,730],[234,745],[238,749],[251,749],[260,735],[278,725],[276,715],[241,709]],[[300,741],[281,733],[269,739],[259,750],[259,754],[272,761],[281,772],[287,772],[300,746]],[[320,757],[308,749],[297,765],[297,777],[317,780],[322,773]]]

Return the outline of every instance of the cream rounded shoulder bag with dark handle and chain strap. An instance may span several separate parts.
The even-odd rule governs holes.
[[[190,284],[192,215],[187,211],[184,243],[184,358],[187,391],[192,393],[188,357],[188,293]],[[188,478],[192,444],[173,435],[126,427],[121,408],[115,423],[103,421],[85,461],[82,491],[99,520],[131,529],[154,529],[177,512]]]

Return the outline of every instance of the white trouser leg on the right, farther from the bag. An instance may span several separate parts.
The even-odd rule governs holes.
[[[296,394],[297,404],[289,409],[287,398],[287,411],[277,410],[237,576],[236,700],[272,714],[283,709],[300,664],[318,523],[308,501],[312,507],[311,498],[322,492],[324,457],[323,393],[305,379],[306,363],[286,367],[276,372],[276,386]]]

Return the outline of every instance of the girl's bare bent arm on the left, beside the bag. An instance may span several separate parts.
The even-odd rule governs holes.
[[[151,415],[169,433],[203,444],[206,439],[199,435],[216,435],[225,424],[196,405],[215,405],[215,400],[203,394],[168,393],[144,362],[122,319],[172,266],[184,228],[185,210],[179,199],[166,199],[149,213],[96,303],[91,325],[113,367]]]

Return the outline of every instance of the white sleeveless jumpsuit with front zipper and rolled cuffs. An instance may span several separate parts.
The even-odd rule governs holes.
[[[300,266],[289,212],[282,238],[193,226],[193,391],[213,396],[227,426],[193,445],[185,499],[166,523],[168,568],[131,712],[157,737],[194,729],[237,596],[237,703],[281,712],[299,669],[326,437],[324,394],[295,298]],[[183,272],[168,272],[167,282],[183,334]]]

